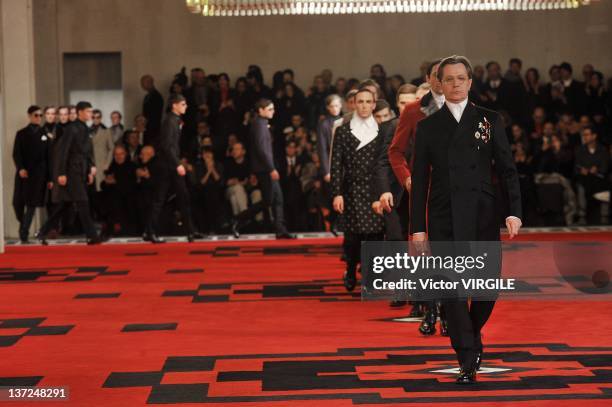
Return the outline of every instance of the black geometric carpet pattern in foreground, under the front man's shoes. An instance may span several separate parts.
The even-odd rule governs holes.
[[[444,350],[447,352],[440,353]],[[233,364],[241,369],[232,370]],[[455,370],[456,358],[447,346],[172,356],[159,371],[112,372],[103,387],[150,387],[147,399],[150,404],[350,400],[353,404],[382,405],[612,400],[612,347],[496,344],[485,349],[477,384],[458,386],[454,382]],[[181,376],[186,372],[189,374]],[[194,372],[202,374],[193,379]],[[244,394],[224,395],[228,383],[234,383],[231,386],[234,394],[245,383]],[[570,386],[575,391],[567,392]],[[405,395],[398,397],[399,393]]]

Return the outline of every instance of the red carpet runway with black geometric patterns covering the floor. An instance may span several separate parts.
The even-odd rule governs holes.
[[[524,237],[553,238],[612,234]],[[49,404],[71,406],[612,405],[612,302],[498,302],[479,383],[461,387],[448,338],[347,293],[340,252],[340,239],[9,247],[0,386],[66,386]]]

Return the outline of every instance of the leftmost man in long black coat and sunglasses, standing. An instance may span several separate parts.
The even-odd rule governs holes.
[[[19,221],[19,239],[28,243],[28,233],[36,207],[45,205],[45,191],[49,182],[49,149],[52,140],[40,127],[42,111],[38,106],[28,108],[30,124],[17,132],[13,146],[15,191],[13,208]]]

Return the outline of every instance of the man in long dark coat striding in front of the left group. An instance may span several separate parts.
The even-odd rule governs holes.
[[[79,102],[76,106],[77,120],[67,125],[57,145],[57,180],[60,186],[55,197],[58,205],[55,211],[38,232],[38,239],[46,244],[46,236],[63,213],[75,205],[81,225],[87,236],[87,244],[102,242],[96,233],[89,211],[87,185],[94,182],[96,167],[93,161],[93,146],[89,137],[87,122],[91,120],[93,109],[89,102]]]

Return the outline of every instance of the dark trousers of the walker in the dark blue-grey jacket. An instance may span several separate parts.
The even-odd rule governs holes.
[[[283,210],[283,190],[278,181],[272,180],[267,172],[255,173],[257,185],[261,191],[261,201],[251,205],[247,210],[238,215],[238,222],[245,223],[253,219],[259,212],[263,211],[264,218],[270,218],[270,208],[274,216],[274,229],[276,233],[287,233],[285,226],[285,214]]]

